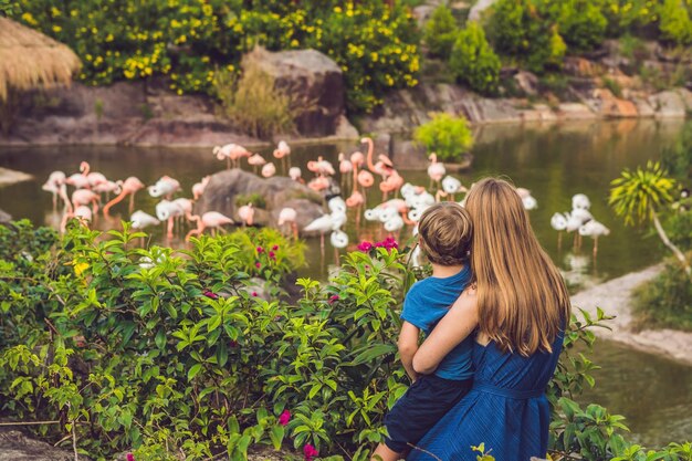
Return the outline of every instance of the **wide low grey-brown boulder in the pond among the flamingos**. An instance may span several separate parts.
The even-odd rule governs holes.
[[[323,198],[306,186],[285,176],[265,179],[248,171],[231,169],[211,176],[205,193],[195,205],[195,213],[218,211],[241,222],[238,208],[245,205],[237,203],[238,198],[261,196],[264,208],[255,207],[254,220],[259,226],[277,227],[279,213],[285,207],[297,211],[296,223],[303,229],[308,222],[324,214]]]

